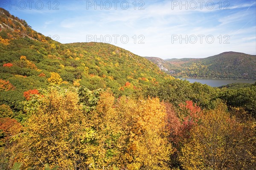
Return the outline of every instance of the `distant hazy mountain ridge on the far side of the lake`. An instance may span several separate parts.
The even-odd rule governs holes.
[[[154,58],[146,57],[174,77],[256,79],[256,55],[230,51],[198,59]]]

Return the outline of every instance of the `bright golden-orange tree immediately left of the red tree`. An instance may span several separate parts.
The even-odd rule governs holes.
[[[165,170],[171,144],[165,130],[166,110],[159,99],[134,101],[122,97],[116,106],[122,126],[122,160],[132,170]]]

